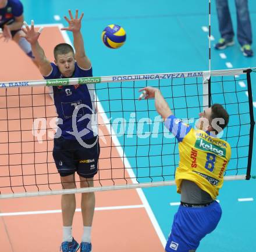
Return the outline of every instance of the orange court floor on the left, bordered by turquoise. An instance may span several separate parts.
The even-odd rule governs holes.
[[[51,34],[55,34],[54,39],[49,39]],[[40,42],[42,47],[45,49],[46,55],[49,59],[53,59],[52,49],[59,42],[65,42],[62,37],[61,31],[58,26],[54,27],[45,27],[44,34],[41,35]],[[3,42],[0,42],[2,46]],[[38,70],[33,66],[29,59],[17,48],[17,46],[11,42],[4,45],[6,50],[6,55],[3,55],[7,62],[6,65],[12,66],[5,67],[6,71],[1,74],[1,81],[19,81],[19,80],[40,80],[41,75]],[[7,53],[8,52],[8,53]],[[16,60],[13,60],[16,59]],[[8,62],[9,61],[9,62]],[[22,63],[21,63],[22,62]],[[4,65],[1,62],[1,69]],[[20,106],[25,103],[31,103],[32,96],[27,95],[31,92],[31,88],[20,89],[20,96],[23,98],[20,99]],[[18,89],[14,88],[9,90],[8,95],[8,106],[15,104],[15,99],[17,96]],[[1,95],[4,94],[5,89],[2,89]],[[44,113],[45,109],[42,109],[40,102],[44,103],[46,99],[47,103],[51,103],[51,98],[48,94],[44,95],[44,88],[38,87],[33,88],[33,106],[38,106],[33,108],[34,116],[42,116],[41,113]],[[41,93],[41,94],[40,94]],[[13,95],[13,96],[11,96]],[[3,97],[1,96],[3,103]],[[28,104],[27,104],[28,105]],[[2,106],[1,106],[2,107]],[[31,138],[32,133],[29,132],[26,135],[21,134],[21,131],[31,129],[32,121],[31,120],[22,120],[22,123],[19,125],[17,123],[16,115],[19,115],[19,110],[9,108],[8,109],[8,128],[10,131],[16,130],[13,132],[9,142],[15,142],[17,139],[20,139],[21,135],[23,141],[28,141]],[[49,114],[54,113],[54,108],[51,107]],[[1,111],[1,117],[6,118],[6,115]],[[21,118],[31,118],[31,111],[21,109]],[[6,125],[2,124],[1,129],[6,129]],[[21,130],[21,131],[20,131]],[[102,131],[105,135],[108,134],[106,128],[102,128]],[[45,138],[45,136],[44,136]],[[33,139],[33,136],[32,136]],[[3,144],[6,142],[7,136],[2,135],[1,137],[1,154],[8,150],[8,146]],[[109,139],[106,139],[108,146],[110,146]],[[47,143],[36,143],[38,148],[41,149],[51,149],[52,146],[45,146]],[[104,146],[104,142],[101,142],[101,146]],[[113,144],[112,144],[113,146]],[[33,154],[33,142],[20,144],[13,143],[9,146],[10,153],[20,153],[20,149],[23,151],[26,150],[27,156],[23,156],[22,163],[23,170],[25,171],[24,178],[27,178],[26,183],[33,183],[34,178],[26,176],[29,174],[30,164],[34,161]],[[31,150],[31,151],[30,151]],[[101,148],[101,157],[107,156],[109,150]],[[51,152],[49,152],[51,153]],[[45,154],[45,153],[44,153]],[[45,155],[40,153],[35,153],[35,159],[38,163],[41,160],[45,160]],[[40,156],[41,155],[41,156]],[[115,147],[112,147],[112,155],[118,156],[118,151]],[[1,162],[6,158],[5,155],[1,155]],[[10,164],[13,164],[11,169],[12,175],[20,174],[20,157],[17,154],[10,154],[9,161]],[[48,157],[48,161],[52,161],[52,157]],[[122,160],[115,160],[116,165],[122,167]],[[46,164],[45,164],[46,165]],[[32,165],[33,166],[33,165]],[[104,161],[99,163],[99,167],[104,167]],[[8,167],[5,167],[8,169]],[[4,167],[3,167],[4,169]],[[40,167],[35,167],[35,169],[40,169]],[[41,164],[41,170],[44,169],[44,164]],[[49,167],[49,172],[55,172],[55,167]],[[8,174],[8,171],[6,171]],[[56,178],[52,179],[58,181],[59,175],[55,175]],[[108,177],[108,174],[104,175],[104,171],[101,172],[101,176],[104,178]],[[127,175],[126,175],[127,177]],[[16,179],[15,179],[16,178]],[[13,185],[19,185],[21,177],[15,177],[12,181]],[[5,182],[7,183],[8,178],[4,178],[1,181],[1,185]],[[37,183],[45,183],[43,175],[37,177]],[[97,183],[96,183],[97,185]],[[31,188],[30,188],[31,189]],[[41,189],[44,189],[42,186]],[[93,242],[93,251],[162,251],[163,244],[161,243],[161,233],[158,233],[159,230],[155,229],[157,227],[152,212],[147,200],[143,196],[141,190],[120,190],[120,191],[110,191],[110,192],[97,192],[96,195],[96,210],[94,215],[93,223],[93,233],[92,233],[92,242]],[[80,195],[76,195],[77,198],[77,208],[80,208]],[[58,251],[59,245],[62,241],[62,218],[60,209],[61,196],[43,196],[43,197],[31,197],[31,198],[22,198],[22,199],[5,199],[0,202],[0,237],[1,237],[1,251],[4,252],[49,252],[49,251]],[[40,212],[38,212],[40,211]],[[12,213],[8,215],[8,213]],[[81,222],[81,213],[78,210],[74,215],[73,222],[73,236],[80,242],[82,235],[83,225]],[[159,237],[160,235],[160,237]],[[164,243],[164,240],[162,239]]]

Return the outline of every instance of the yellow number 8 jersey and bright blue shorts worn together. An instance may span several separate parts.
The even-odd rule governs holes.
[[[180,161],[175,173],[177,192],[181,192],[182,180],[186,179],[195,182],[215,200],[230,159],[229,144],[209,132],[184,124],[173,115],[168,117],[165,125],[179,142]],[[205,206],[179,206],[165,246],[166,252],[194,252],[201,239],[214,231],[221,219],[221,206],[217,201]]]

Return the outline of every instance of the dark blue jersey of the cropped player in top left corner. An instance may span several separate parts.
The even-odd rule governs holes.
[[[10,24],[23,14],[23,5],[19,0],[8,0],[7,5],[0,9],[0,27]]]

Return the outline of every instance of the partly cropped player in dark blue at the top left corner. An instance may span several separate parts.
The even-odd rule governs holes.
[[[35,57],[31,51],[29,42],[23,37],[24,33],[21,30],[23,26],[23,5],[19,0],[0,0],[0,28],[2,29],[1,38],[5,41],[13,39],[24,53],[33,60]]]

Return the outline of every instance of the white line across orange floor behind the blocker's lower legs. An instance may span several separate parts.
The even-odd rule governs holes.
[[[122,209],[131,209],[131,208],[144,208],[143,205],[131,205],[131,206],[115,206],[115,207],[95,207],[95,211],[104,211],[104,210],[122,210]],[[76,212],[81,212],[81,208],[76,208]],[[45,211],[24,211],[16,213],[0,213],[2,216],[17,216],[17,215],[33,215],[33,214],[57,214],[61,213],[59,210],[45,210]]]

